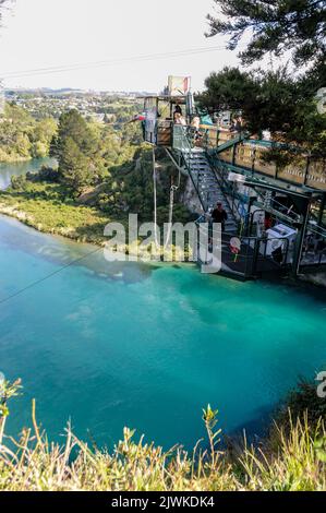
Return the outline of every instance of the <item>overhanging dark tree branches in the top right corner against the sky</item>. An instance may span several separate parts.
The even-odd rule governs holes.
[[[214,0],[217,14],[208,14],[210,32],[229,35],[236,49],[244,34],[251,40],[240,53],[252,64],[266,53],[292,50],[297,65],[319,68],[326,53],[326,0]]]

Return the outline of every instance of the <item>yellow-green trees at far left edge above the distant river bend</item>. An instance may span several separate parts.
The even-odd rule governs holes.
[[[53,119],[36,121],[25,109],[5,104],[0,116],[0,162],[47,156],[56,132]]]

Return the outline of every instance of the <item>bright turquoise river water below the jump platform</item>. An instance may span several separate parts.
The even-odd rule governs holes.
[[[298,378],[325,368],[326,297],[307,286],[108,263],[3,216],[0,270],[0,371],[24,385],[11,433],[35,397],[55,440],[71,419],[99,445],[129,426],[190,449],[207,403],[224,432],[261,434]]]

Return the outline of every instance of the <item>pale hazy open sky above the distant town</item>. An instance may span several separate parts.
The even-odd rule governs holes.
[[[4,15],[0,76],[38,68],[224,47],[207,39],[212,0],[15,0]],[[5,79],[9,87],[81,87],[159,91],[169,74],[191,75],[203,88],[210,71],[238,63],[227,50],[178,58],[128,61],[107,67]]]

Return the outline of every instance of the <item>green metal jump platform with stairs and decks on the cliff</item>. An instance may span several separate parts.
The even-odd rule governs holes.
[[[225,274],[297,276],[304,266],[326,264],[325,159],[283,142],[204,124],[190,93],[147,97],[145,112],[144,140],[164,147],[192,180],[202,208],[198,224],[212,219],[217,203],[227,213]],[[275,154],[286,157],[282,165]]]

